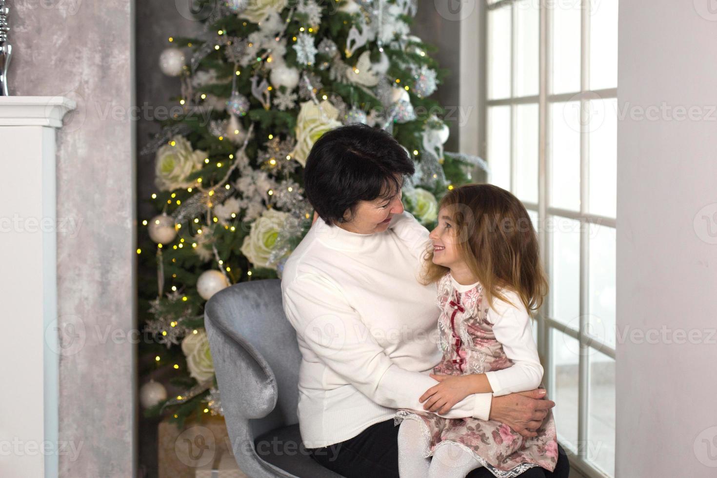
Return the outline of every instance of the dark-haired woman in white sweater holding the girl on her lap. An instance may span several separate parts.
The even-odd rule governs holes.
[[[299,427],[311,456],[347,478],[399,476],[394,412],[422,410],[419,397],[438,383],[428,375],[442,356],[437,290],[417,279],[429,232],[401,202],[413,173],[406,150],[366,125],[325,133],[306,162],[306,196],[320,219],[282,274],[303,355]],[[475,393],[441,416],[498,420],[534,436],[554,405],[543,390]],[[549,476],[568,476],[560,455]]]

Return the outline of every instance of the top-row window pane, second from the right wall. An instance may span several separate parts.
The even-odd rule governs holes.
[[[553,93],[580,91],[580,1],[554,0],[552,12]]]

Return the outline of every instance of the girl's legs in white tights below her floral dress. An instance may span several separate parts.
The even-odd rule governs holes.
[[[426,446],[423,424],[404,420],[399,426],[399,476],[401,478],[464,478],[481,466],[472,454],[446,442],[436,447],[433,459],[422,457]]]

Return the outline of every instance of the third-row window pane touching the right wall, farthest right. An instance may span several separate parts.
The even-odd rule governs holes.
[[[589,330],[615,347],[615,229],[590,224],[588,310]]]

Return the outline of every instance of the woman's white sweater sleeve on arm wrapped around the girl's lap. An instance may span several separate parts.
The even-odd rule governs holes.
[[[438,382],[394,364],[336,285],[300,272],[285,287],[283,299],[299,340],[346,383],[379,405],[423,410],[419,397]],[[474,393],[441,416],[488,420],[491,398],[490,393]]]

